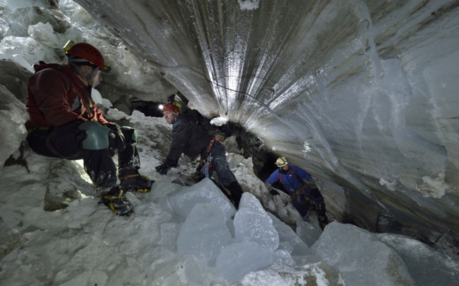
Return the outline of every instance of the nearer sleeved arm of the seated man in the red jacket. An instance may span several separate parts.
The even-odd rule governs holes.
[[[30,82],[29,88],[35,103],[52,126],[68,122],[87,121],[70,108],[68,92],[69,79],[60,71],[48,69],[40,71]]]

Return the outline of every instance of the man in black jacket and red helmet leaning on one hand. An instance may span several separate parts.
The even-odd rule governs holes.
[[[200,155],[201,162],[207,167],[208,178],[215,170],[220,183],[229,190],[234,206],[238,208],[244,192],[229,170],[225,146],[198,125],[195,113],[181,114],[179,106],[171,102],[164,105],[162,112],[166,122],[172,125],[172,143],[166,160],[156,167],[157,172],[166,175],[172,167],[177,166],[181,154],[190,157]]]

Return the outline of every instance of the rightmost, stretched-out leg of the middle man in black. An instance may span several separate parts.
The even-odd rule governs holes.
[[[229,169],[225,147],[220,142],[215,142],[210,150],[210,154],[212,156],[212,169],[217,173],[220,183],[229,190],[234,206],[238,208],[244,191]]]

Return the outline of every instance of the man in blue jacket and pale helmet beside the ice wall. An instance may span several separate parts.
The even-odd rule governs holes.
[[[324,197],[317,189],[310,173],[298,166],[288,164],[285,157],[280,157],[276,161],[278,169],[265,181],[271,195],[279,195],[273,189],[273,183],[281,183],[288,195],[290,195],[292,205],[304,217],[310,206],[313,206],[317,213],[317,220],[322,229],[328,224],[327,214],[325,214]]]

